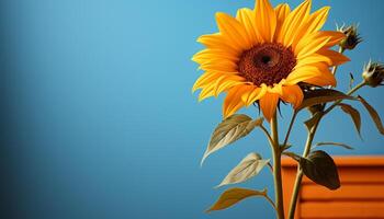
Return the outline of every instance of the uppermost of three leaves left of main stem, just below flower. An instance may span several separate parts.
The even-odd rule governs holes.
[[[263,118],[252,120],[251,117],[242,114],[235,114],[223,120],[212,134],[201,164],[211,153],[247,136],[255,127],[260,126],[262,122]]]

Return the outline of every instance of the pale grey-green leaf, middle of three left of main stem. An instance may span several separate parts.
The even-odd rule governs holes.
[[[260,171],[269,163],[269,159],[262,160],[260,154],[251,152],[245,159],[242,159],[241,162],[236,165],[216,187],[242,183],[259,174]]]

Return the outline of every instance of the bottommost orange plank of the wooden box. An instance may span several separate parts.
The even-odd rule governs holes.
[[[384,218],[384,201],[307,201],[301,204],[301,218]]]

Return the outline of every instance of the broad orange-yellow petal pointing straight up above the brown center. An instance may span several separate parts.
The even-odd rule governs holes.
[[[276,28],[276,14],[269,0],[258,0],[255,9],[256,27],[264,42],[273,42]]]

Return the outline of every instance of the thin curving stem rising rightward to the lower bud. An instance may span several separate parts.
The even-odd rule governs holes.
[[[353,89],[351,89],[347,95],[352,95],[354,92],[357,92],[358,90],[360,90],[361,88],[363,88],[366,83],[363,81],[361,83],[359,83],[358,85],[355,85]],[[309,151],[310,151],[310,146],[312,142],[314,140],[317,127],[321,120],[321,118],[328,114],[331,110],[334,110],[339,103],[341,103],[342,100],[336,101],[332,105],[330,105],[326,111],[324,111],[321,113],[321,115],[319,116],[319,118],[317,119],[317,122],[315,123],[315,125],[313,126],[313,128],[309,130],[308,132],[308,137],[307,137],[307,141],[305,143],[305,148],[304,148],[304,152],[303,152],[303,157],[307,157]],[[301,183],[303,180],[303,171],[300,169],[300,166],[297,166],[297,173],[296,173],[296,180],[295,180],[295,184],[293,187],[293,194],[292,194],[292,198],[291,198],[291,204],[290,204],[290,211],[289,211],[289,219],[293,219],[294,215],[295,215],[295,208],[296,208],[296,203],[297,203],[297,197],[298,197],[298,191],[301,187]]]

